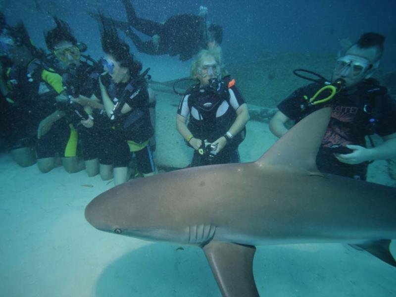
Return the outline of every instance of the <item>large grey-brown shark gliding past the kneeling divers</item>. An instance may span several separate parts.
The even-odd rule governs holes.
[[[396,189],[316,167],[330,109],[301,120],[255,162],[133,180],[93,199],[95,228],[201,247],[225,297],[258,296],[255,246],[348,243],[396,266]]]

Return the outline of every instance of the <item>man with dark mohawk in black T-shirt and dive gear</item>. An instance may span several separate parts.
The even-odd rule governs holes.
[[[279,111],[270,121],[271,132],[281,137],[288,131],[285,123],[289,119],[298,122],[330,106],[333,112],[316,159],[320,171],[366,180],[368,161],[395,157],[396,103],[371,78],[378,69],[384,41],[381,34],[363,34],[337,59],[330,83],[322,88],[318,84],[299,88],[279,103]],[[366,148],[365,136],[372,134],[380,135],[384,143]]]

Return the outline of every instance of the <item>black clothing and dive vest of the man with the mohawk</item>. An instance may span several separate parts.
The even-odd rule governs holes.
[[[299,88],[279,103],[279,110],[296,122],[324,106],[333,108],[329,126],[316,158],[320,171],[365,180],[368,162],[356,165],[340,162],[334,156],[335,149],[331,147],[338,145],[365,147],[367,135],[376,133],[387,136],[396,132],[396,101],[385,94],[370,95],[372,92],[369,90],[380,90],[372,82],[372,80],[364,81],[359,90],[353,94],[340,92],[330,101],[308,106],[304,110],[301,110],[301,106],[306,103],[304,95],[311,98],[319,90],[319,85],[310,84]]]

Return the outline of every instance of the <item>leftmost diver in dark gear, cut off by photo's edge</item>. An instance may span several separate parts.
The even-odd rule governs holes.
[[[22,46],[24,42],[30,43],[29,40],[22,40],[26,35],[18,34],[23,31],[23,24],[8,26],[0,13],[0,26],[1,120],[4,122],[1,134],[7,140],[13,160],[27,167],[36,163],[35,127],[38,122],[37,113],[32,112],[37,94],[26,74],[29,72],[29,62],[37,51],[30,46]],[[21,49],[21,53],[17,48]]]

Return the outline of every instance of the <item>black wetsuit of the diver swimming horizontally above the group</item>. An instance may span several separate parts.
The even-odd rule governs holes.
[[[135,9],[129,0],[123,0],[129,25],[145,35],[153,37],[158,35],[160,40],[158,47],[152,40],[142,41],[132,29],[119,26],[126,35],[131,38],[140,52],[150,55],[180,54],[181,61],[192,58],[200,49],[206,48],[204,37],[205,20],[194,14],[181,14],[170,17],[164,24],[141,19],[136,16]]]

